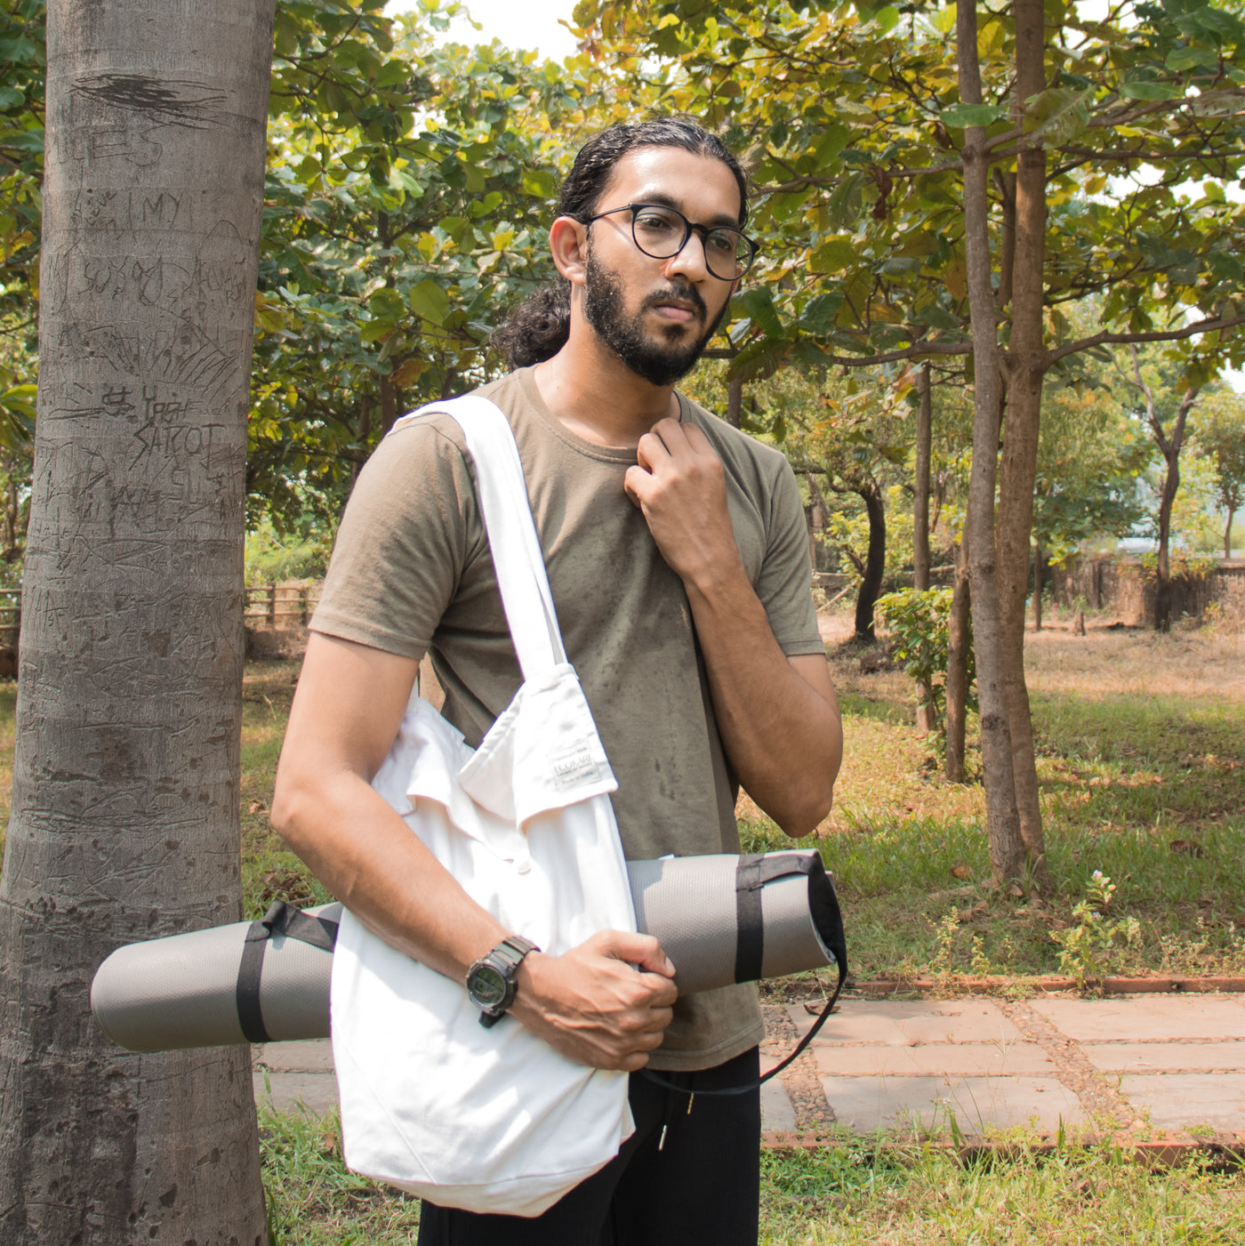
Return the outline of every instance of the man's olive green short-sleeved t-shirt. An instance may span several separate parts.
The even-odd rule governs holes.
[[[618,780],[611,799],[627,858],[738,852],[738,785],[687,594],[623,492],[634,449],[568,431],[531,369],[479,392],[515,430],[567,657]],[[786,460],[682,395],[679,406],[725,467],[735,541],[779,645],[789,657],[824,653],[804,510]],[[312,627],[403,657],[426,652],[445,689],[441,713],[472,746],[510,704],[518,663],[474,465],[449,416],[398,429],[364,467]],[[710,1068],[761,1033],[751,986],[688,996],[651,1063]]]

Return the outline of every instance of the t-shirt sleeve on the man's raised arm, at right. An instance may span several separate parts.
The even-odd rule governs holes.
[[[779,648],[789,658],[824,654],[813,604],[813,562],[809,528],[795,473],[783,460],[770,493],[768,545],[756,596],[769,616]]]

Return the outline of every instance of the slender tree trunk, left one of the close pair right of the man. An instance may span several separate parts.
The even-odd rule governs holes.
[[[960,98],[981,103],[977,61],[977,10],[956,9]],[[995,486],[998,477],[998,429],[1002,379],[998,371],[998,326],[991,282],[990,203],[986,131],[965,130],[965,259],[973,339],[973,455],[968,481],[968,573],[972,583],[973,648],[981,705],[981,756],[986,785],[986,835],[990,861],[999,885],[1018,878],[1024,867],[1012,738],[1007,700],[1007,655],[999,604],[995,541]]]

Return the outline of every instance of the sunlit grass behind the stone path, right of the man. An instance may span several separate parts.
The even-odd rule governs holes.
[[[1052,934],[1095,870],[1117,885],[1108,916],[1142,927],[1112,972],[1245,973],[1239,663],[1196,634],[1077,648],[1043,637],[1032,649],[1052,896],[992,888],[981,784],[941,776],[911,726],[907,680],[835,662],[845,760],[815,842],[836,877],[854,976],[1058,973]],[[740,815],[748,850],[789,845],[747,799]]]

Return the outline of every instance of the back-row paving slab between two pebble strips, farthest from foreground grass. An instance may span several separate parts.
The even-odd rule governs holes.
[[[788,1009],[801,1037],[813,1022],[803,1004]],[[988,999],[844,999],[813,1040],[840,1043],[1019,1043],[1024,1035]]]

